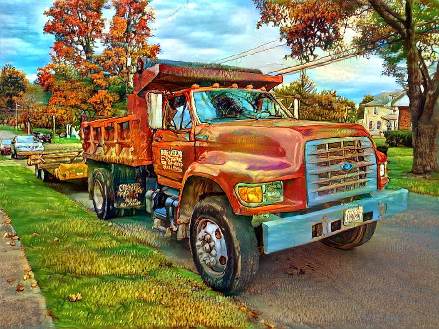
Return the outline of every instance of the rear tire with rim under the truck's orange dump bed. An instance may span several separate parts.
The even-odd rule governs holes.
[[[103,169],[95,169],[92,176],[93,207],[99,218],[114,217],[114,191],[111,174]]]

